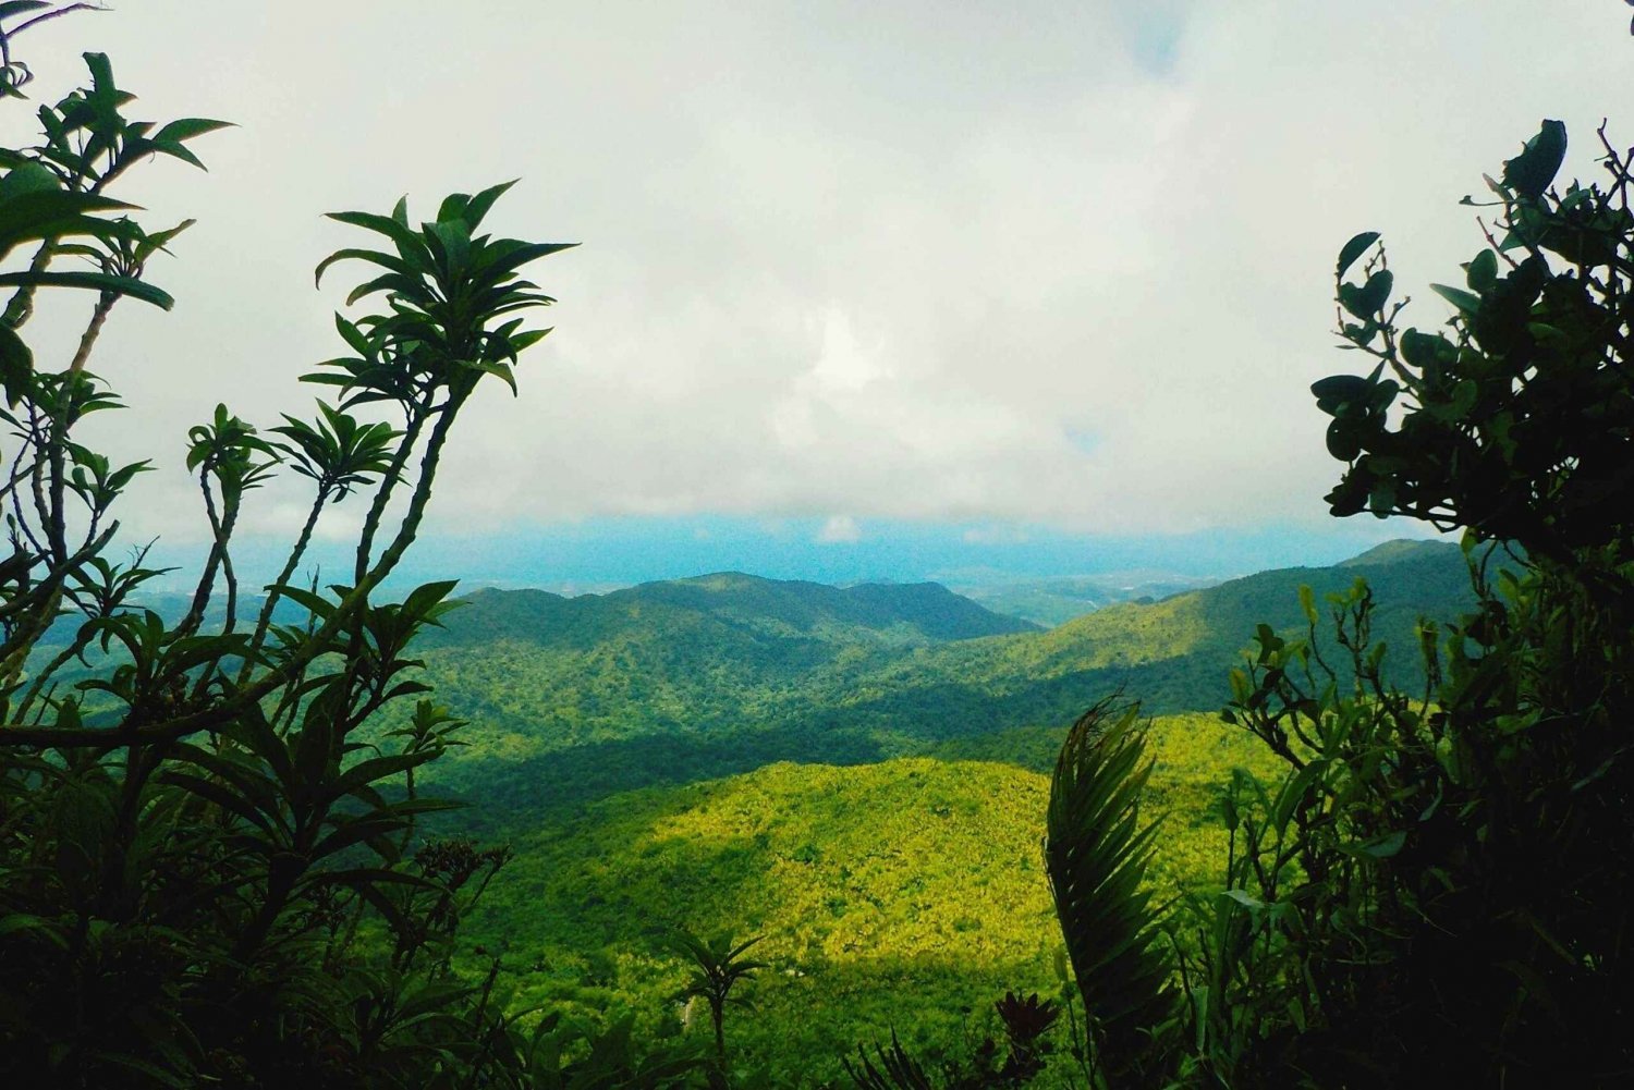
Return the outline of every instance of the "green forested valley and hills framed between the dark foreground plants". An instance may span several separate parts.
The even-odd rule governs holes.
[[[1224,672],[1260,618],[1301,634],[1299,585],[1358,575],[1395,647],[1469,601],[1461,554],[1435,543],[1047,631],[933,585],[477,592],[423,647],[469,721],[433,789],[479,804],[443,827],[515,851],[462,945],[500,956],[516,1008],[627,1012],[659,1039],[680,1033],[667,928],[763,936],[755,1010],[727,1023],[748,1082],[820,1085],[892,1031],[931,1057],[995,1033],[1007,990],[1060,989],[1039,842],[1067,724],[1119,686],[1150,695],[1154,881],[1165,899],[1217,884],[1221,784],[1271,771],[1211,714]]]

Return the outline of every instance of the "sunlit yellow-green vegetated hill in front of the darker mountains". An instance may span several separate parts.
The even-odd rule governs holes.
[[[1062,734],[609,796],[515,830],[466,935],[502,951],[513,1007],[632,1010],[650,1034],[681,1031],[685,964],[665,928],[765,935],[770,969],[743,985],[755,1010],[729,1012],[725,1031],[735,1065],[779,1083],[833,1079],[892,1030],[918,1056],[967,1052],[1005,990],[1059,990],[1039,843]],[[1150,747],[1152,807],[1168,814],[1159,896],[1204,889],[1224,848],[1216,784],[1263,755],[1209,716],[1159,719]]]

